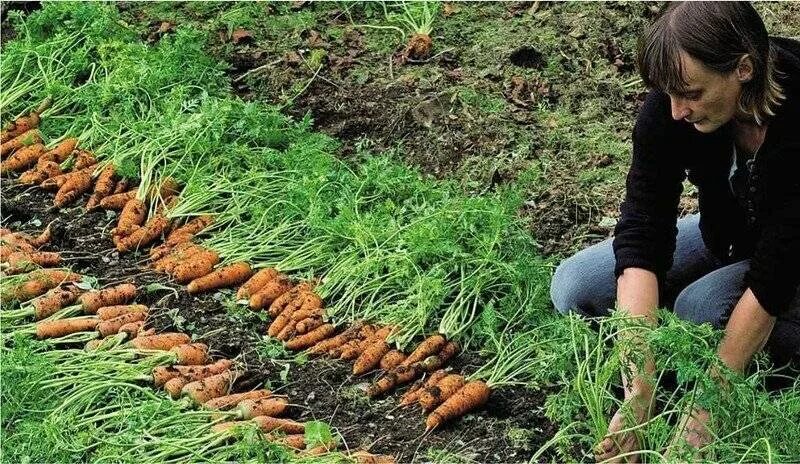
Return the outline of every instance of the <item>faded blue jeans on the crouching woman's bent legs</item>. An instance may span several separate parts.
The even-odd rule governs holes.
[[[673,265],[659,289],[659,301],[683,320],[722,328],[745,291],[750,261],[720,262],[706,249],[699,222],[697,214],[678,221]],[[617,296],[611,244],[612,239],[605,240],[561,262],[550,287],[556,310],[588,317],[609,314]],[[775,322],[767,347],[779,364],[800,352],[800,289],[788,313]]]

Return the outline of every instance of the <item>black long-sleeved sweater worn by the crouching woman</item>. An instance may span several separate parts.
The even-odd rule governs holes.
[[[731,192],[732,124],[703,134],[670,114],[669,97],[651,91],[633,130],[633,162],[614,239],[616,275],[628,267],[672,266],[678,201],[687,178],[697,186],[706,247],[725,263],[751,258],[745,283],[773,316],[789,309],[800,284],[800,43],[772,38],[786,99],[769,121],[744,201]]]

